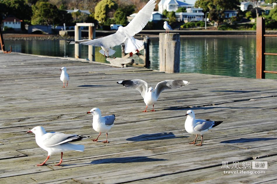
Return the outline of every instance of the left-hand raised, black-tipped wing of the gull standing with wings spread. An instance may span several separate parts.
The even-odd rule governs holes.
[[[121,84],[127,88],[138,90],[141,93],[141,96],[144,98],[145,92],[147,91],[147,82],[140,79],[133,80],[122,80],[118,81],[118,84]]]

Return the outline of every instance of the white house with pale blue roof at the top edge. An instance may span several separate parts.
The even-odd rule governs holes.
[[[185,8],[192,8],[193,5],[187,4],[182,0],[161,0],[158,3],[159,13],[163,13],[164,10],[171,12],[176,12],[178,8],[185,7]]]

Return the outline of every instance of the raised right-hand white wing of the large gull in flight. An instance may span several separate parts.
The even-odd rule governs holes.
[[[155,1],[156,0],[148,1],[148,3],[136,14],[134,19],[127,26],[123,27],[125,34],[134,36],[145,27],[155,8]]]

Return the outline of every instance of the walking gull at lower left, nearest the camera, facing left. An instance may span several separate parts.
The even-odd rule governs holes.
[[[45,165],[45,162],[50,158],[50,155],[53,153],[59,153],[61,152],[61,155],[63,155],[63,152],[65,151],[84,151],[85,146],[83,145],[76,145],[76,144],[70,144],[69,142],[75,142],[80,141],[83,138],[89,138],[82,135],[76,135],[76,134],[64,134],[60,132],[46,132],[42,126],[36,126],[32,130],[29,130],[26,133],[33,132],[36,135],[36,144],[38,144],[39,147],[46,150],[48,152],[48,156],[46,160],[42,164],[37,164],[37,166]],[[62,163],[62,156],[60,162],[55,165],[58,166]]]

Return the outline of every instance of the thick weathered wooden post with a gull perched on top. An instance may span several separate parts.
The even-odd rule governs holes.
[[[166,73],[180,72],[180,34],[159,34],[160,71]]]

